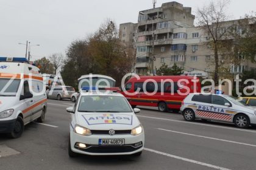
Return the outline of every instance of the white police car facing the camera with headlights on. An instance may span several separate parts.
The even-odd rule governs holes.
[[[69,156],[141,155],[144,131],[126,98],[83,87],[71,113]]]

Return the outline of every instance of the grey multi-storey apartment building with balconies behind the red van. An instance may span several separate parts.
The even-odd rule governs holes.
[[[134,72],[146,75],[152,73],[152,67],[157,69],[163,63],[171,67],[175,63],[185,74],[209,77],[209,73],[214,72],[213,51],[208,45],[210,36],[194,27],[194,18],[190,7],[168,2],[139,12],[137,24],[121,24],[121,41],[132,43],[137,49]],[[234,22],[228,21],[227,27]],[[230,72],[243,72],[254,67],[255,64],[248,61],[240,66],[230,63]]]

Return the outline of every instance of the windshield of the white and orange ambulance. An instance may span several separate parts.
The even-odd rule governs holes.
[[[0,96],[15,96],[19,86],[20,80],[0,79]]]

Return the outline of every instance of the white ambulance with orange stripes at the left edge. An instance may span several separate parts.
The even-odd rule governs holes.
[[[24,125],[44,121],[46,109],[40,69],[26,58],[0,57],[0,133],[21,137]]]

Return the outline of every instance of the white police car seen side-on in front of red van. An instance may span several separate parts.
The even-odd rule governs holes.
[[[236,127],[247,128],[256,124],[255,107],[245,106],[236,98],[216,94],[190,94],[182,102],[180,112],[187,121],[226,121]]]

